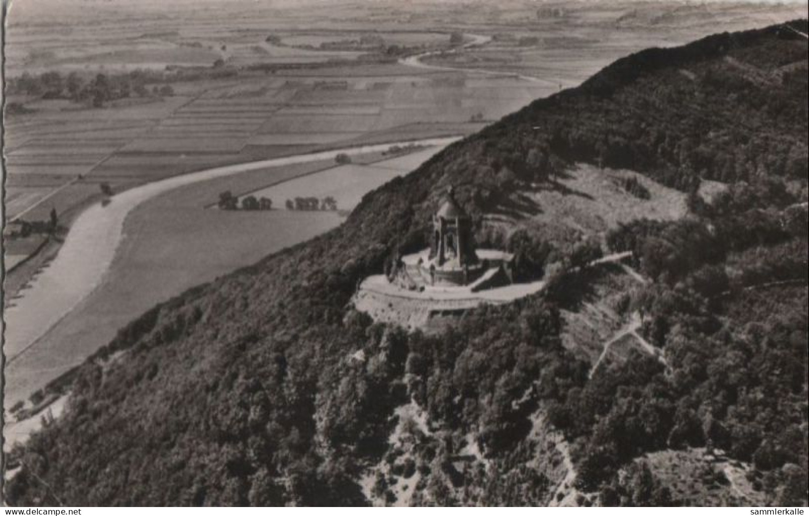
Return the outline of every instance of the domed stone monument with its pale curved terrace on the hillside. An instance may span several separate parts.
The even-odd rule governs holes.
[[[515,283],[513,256],[479,249],[472,218],[455,201],[452,188],[433,215],[430,247],[399,256],[384,275],[367,277],[354,306],[375,320],[408,328],[436,327],[482,303],[501,304],[534,294],[544,283]]]

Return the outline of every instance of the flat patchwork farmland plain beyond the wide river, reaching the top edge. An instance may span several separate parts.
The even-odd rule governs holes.
[[[468,134],[481,127],[472,120],[497,120],[580,82],[622,54],[711,32],[708,16],[714,15],[697,8],[678,11],[672,19],[680,25],[668,27],[663,37],[645,24],[654,11],[647,7],[631,12],[625,6],[574,9],[562,20],[537,19],[528,10],[532,21],[527,23],[520,21],[519,9],[500,18],[499,12],[483,15],[475,9],[440,15],[442,8],[430,6],[403,30],[393,7],[340,6],[320,17],[303,6],[278,15],[234,4],[228,6],[223,27],[217,2],[201,2],[191,17],[180,6],[145,2],[131,10],[137,14],[131,20],[125,16],[127,7],[109,9],[94,2],[91,21],[86,12],[78,14],[82,10],[76,5],[65,0],[47,12],[15,6],[6,35],[7,73],[67,70],[63,66],[83,66],[87,73],[114,73],[115,66],[210,68],[222,59],[237,74],[201,74],[172,82],[174,95],[121,99],[104,108],[30,95],[10,98],[31,112],[6,119],[8,184],[44,189],[18,197],[15,210],[78,175],[87,184],[106,182],[120,191],[205,167],[328,146]],[[722,11],[729,14],[721,21],[742,28],[772,16],[771,11],[739,7]],[[366,50],[343,50],[363,38],[367,46],[447,49],[447,25],[436,20],[448,13],[457,19],[455,30],[492,38],[424,58],[458,70],[360,64],[357,59]],[[571,23],[578,27],[575,36]],[[621,32],[614,30],[617,26]],[[268,36],[280,44],[270,43]],[[342,44],[341,50],[329,47],[333,43]],[[273,64],[294,68],[248,70]],[[57,204],[70,199],[81,205],[76,194],[90,195],[93,187],[87,184],[61,201],[57,197]]]

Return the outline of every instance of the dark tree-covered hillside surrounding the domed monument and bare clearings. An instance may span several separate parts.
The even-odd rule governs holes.
[[[413,479],[412,503],[547,504],[562,494],[542,437],[556,429],[581,503],[685,503],[633,459],[708,447],[751,463],[768,503],[805,504],[806,93],[807,40],[773,26],[649,49],[537,100],[371,192],[336,230],[122,329],[80,367],[63,417],[15,450],[6,497],[363,505],[364,483],[394,503]],[[501,240],[536,274],[556,264],[543,294],[430,335],[350,307],[358,281],[425,245],[448,185],[482,220],[576,162],[689,194],[688,218],[606,239],[650,280],[624,309],[644,314],[665,363],[633,353],[590,378],[559,310],[594,272],[571,267],[581,247],[522,231]],[[705,200],[705,180],[726,188]]]

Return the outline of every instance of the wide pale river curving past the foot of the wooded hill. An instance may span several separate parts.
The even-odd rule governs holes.
[[[30,288],[21,291],[21,296],[15,298],[14,304],[6,310],[3,342],[6,367],[19,359],[100,285],[121,243],[127,215],[144,201],[174,188],[265,167],[335,159],[337,154],[379,152],[391,146],[447,146],[460,138],[388,142],[216,167],[144,184],[117,194],[107,205],[92,205],[70,227],[66,241],[53,262],[32,280]]]

